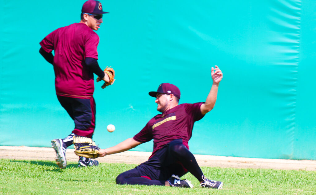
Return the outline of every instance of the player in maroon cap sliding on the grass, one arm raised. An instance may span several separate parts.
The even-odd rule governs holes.
[[[170,83],[162,83],[157,91],[149,92],[150,96],[156,97],[157,110],[162,114],[157,114],[149,120],[134,137],[111,148],[97,148],[99,157],[103,157],[124,152],[154,139],[154,149],[149,160],[121,173],[116,178],[117,184],[193,187],[190,181],[180,179],[182,175],[190,172],[200,181],[201,187],[222,188],[223,182],[209,180],[204,176],[188,146],[194,122],[212,110],[216,102],[219,82],[223,77],[218,66],[215,66],[215,69],[212,67],[211,76],[213,85],[205,103],[179,104],[179,88]],[[83,152],[87,151],[88,147],[82,147]],[[79,147],[76,153],[81,155],[80,152]]]

